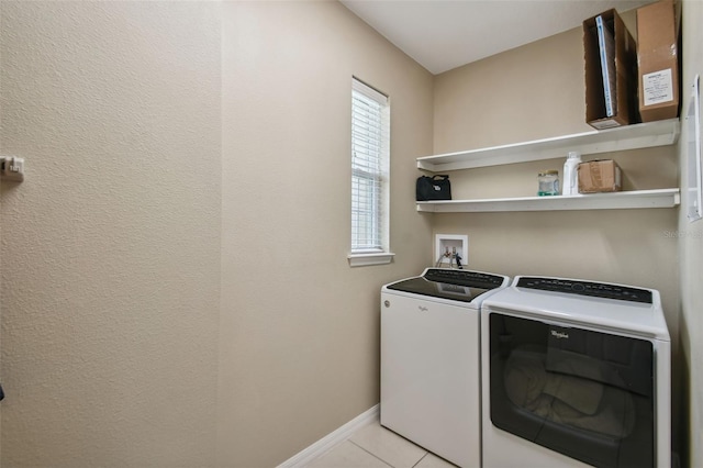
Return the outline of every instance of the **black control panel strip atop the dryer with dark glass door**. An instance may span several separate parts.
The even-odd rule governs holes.
[[[651,304],[651,291],[627,286],[590,282],[572,279],[521,277],[518,288],[539,289],[542,291],[566,292],[593,298],[617,299],[621,301]]]

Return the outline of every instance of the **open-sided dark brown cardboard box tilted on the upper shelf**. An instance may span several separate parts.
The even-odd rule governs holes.
[[[607,55],[610,59],[614,60],[610,80],[613,87],[611,94],[613,98],[612,116],[609,116],[606,112],[601,46],[596,27],[598,16],[603,19],[613,37],[613,49]],[[636,47],[632,34],[614,9],[583,21],[585,122],[594,129],[611,129],[639,121]]]

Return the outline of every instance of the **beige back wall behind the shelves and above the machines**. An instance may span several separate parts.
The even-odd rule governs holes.
[[[624,15],[626,21],[632,23],[633,13]],[[437,76],[435,153],[592,130],[584,123],[581,42],[579,27]],[[603,157],[617,160],[625,190],[679,185],[676,146],[584,159]],[[562,164],[556,159],[454,171],[453,194],[457,199],[534,196],[537,172],[561,171]],[[674,349],[674,411],[681,411],[677,209],[431,216],[435,233],[468,234],[471,268],[658,289]]]

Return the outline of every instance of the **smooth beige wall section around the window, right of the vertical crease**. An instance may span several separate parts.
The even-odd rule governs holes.
[[[432,76],[336,2],[223,18],[219,461],[272,466],[378,403],[380,286],[429,260]],[[391,100],[388,266],[346,258],[353,75]]]

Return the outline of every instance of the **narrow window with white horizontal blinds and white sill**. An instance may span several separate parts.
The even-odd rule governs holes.
[[[388,264],[390,104],[352,81],[352,266]]]

